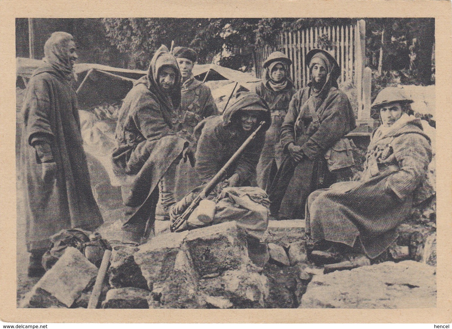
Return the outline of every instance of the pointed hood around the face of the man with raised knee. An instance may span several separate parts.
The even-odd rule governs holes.
[[[170,89],[168,94],[160,87],[157,79],[157,75],[163,66],[169,66],[174,69],[176,78],[174,81],[173,88]],[[171,99],[172,107],[178,108],[180,105],[180,71],[177,61],[174,56],[168,51],[165,45],[161,45],[159,49],[155,52],[149,64],[149,69],[147,71],[147,79],[149,81],[148,88],[161,100],[165,101],[166,96]],[[165,102],[167,103],[167,101]]]

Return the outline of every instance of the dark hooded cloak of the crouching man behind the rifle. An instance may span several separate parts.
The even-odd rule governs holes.
[[[240,157],[227,170],[225,178],[239,175],[240,186],[250,183],[256,176],[256,165],[264,146],[265,131],[270,126],[270,112],[267,103],[253,93],[240,93],[222,116],[204,119],[195,128],[195,135],[201,135],[196,149],[195,169],[202,183],[209,181],[226,164],[236,150],[250,136],[239,126],[240,111],[257,111],[259,120],[265,121],[253,141],[245,148]]]

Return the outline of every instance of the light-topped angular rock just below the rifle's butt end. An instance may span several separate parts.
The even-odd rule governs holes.
[[[164,282],[173,272],[176,256],[187,234],[184,231],[157,235],[142,244],[133,255],[149,290],[153,290],[153,283]]]

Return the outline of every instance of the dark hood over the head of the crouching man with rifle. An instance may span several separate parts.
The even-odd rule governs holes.
[[[223,113],[223,127],[231,126],[240,111],[258,111],[260,114],[259,120],[265,121],[261,132],[267,131],[272,123],[267,102],[257,94],[241,92],[236,95],[234,103],[226,108],[225,113]]]

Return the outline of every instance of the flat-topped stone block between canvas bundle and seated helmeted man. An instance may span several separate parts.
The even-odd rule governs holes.
[[[262,240],[288,247],[292,242],[306,239],[305,226],[306,221],[299,219],[268,221]]]

